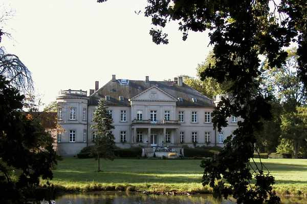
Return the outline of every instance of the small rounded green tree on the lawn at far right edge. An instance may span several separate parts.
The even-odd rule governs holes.
[[[282,137],[293,143],[294,158],[298,158],[300,147],[307,141],[307,107],[296,107],[295,112],[281,116]]]

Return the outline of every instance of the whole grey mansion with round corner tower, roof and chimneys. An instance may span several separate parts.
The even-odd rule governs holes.
[[[90,94],[82,90],[61,90],[57,97],[57,133],[59,155],[76,155],[93,145],[95,130],[93,115],[100,98],[105,100],[113,119],[112,133],[116,145],[122,148],[223,146],[224,139],[237,127],[237,118],[231,117],[221,132],[213,130],[211,113],[221,95],[210,99],[183,83],[174,81],[144,81],[116,79]]]

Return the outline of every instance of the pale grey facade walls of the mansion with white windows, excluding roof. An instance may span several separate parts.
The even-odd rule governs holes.
[[[95,130],[91,126],[97,105],[90,104],[90,97],[81,90],[61,91],[57,97],[58,123],[64,130],[57,143],[58,154],[76,155],[83,147],[93,145]],[[123,148],[223,146],[223,141],[237,127],[236,118],[231,117],[229,126],[218,133],[211,122],[214,106],[180,107],[178,100],[159,87],[151,86],[129,98],[126,106],[108,106],[112,111],[116,145]]]

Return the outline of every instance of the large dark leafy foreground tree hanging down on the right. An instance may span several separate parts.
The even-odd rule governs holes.
[[[105,2],[106,0],[98,0]],[[270,9],[270,4],[273,8]],[[227,126],[227,117],[240,116],[235,137],[225,140],[225,147],[212,161],[203,161],[203,185],[209,184],[215,195],[232,194],[238,203],[279,203],[272,191],[274,177],[264,172],[264,164],[250,172],[256,138],[261,119],[270,119],[270,96],[262,94],[259,78],[259,55],[268,58],[270,68],[286,61],[283,47],[298,44],[298,76],[307,87],[307,5],[305,0],[254,1],[175,1],[147,0],[145,16],[151,17],[155,29],[149,34],[153,42],[168,43],[163,28],[168,21],[179,23],[183,40],[189,31],[210,30],[215,65],[209,65],[201,80],[212,77],[218,83],[232,82],[228,90],[233,98],[224,98],[213,112],[213,124],[218,131]],[[252,175],[256,180],[251,188]],[[222,180],[222,176],[224,180]],[[218,180],[216,184],[215,181]],[[225,181],[229,186],[225,186]]]

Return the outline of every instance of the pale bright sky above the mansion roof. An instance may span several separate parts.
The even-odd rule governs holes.
[[[209,50],[208,33],[190,32],[186,41],[176,22],[165,32],[169,44],[156,45],[149,30],[146,0],[0,0],[13,17],[3,24],[12,39],[1,46],[32,72],[36,93],[45,104],[59,90],[86,90],[112,79],[163,81],[178,75],[196,77]]]

